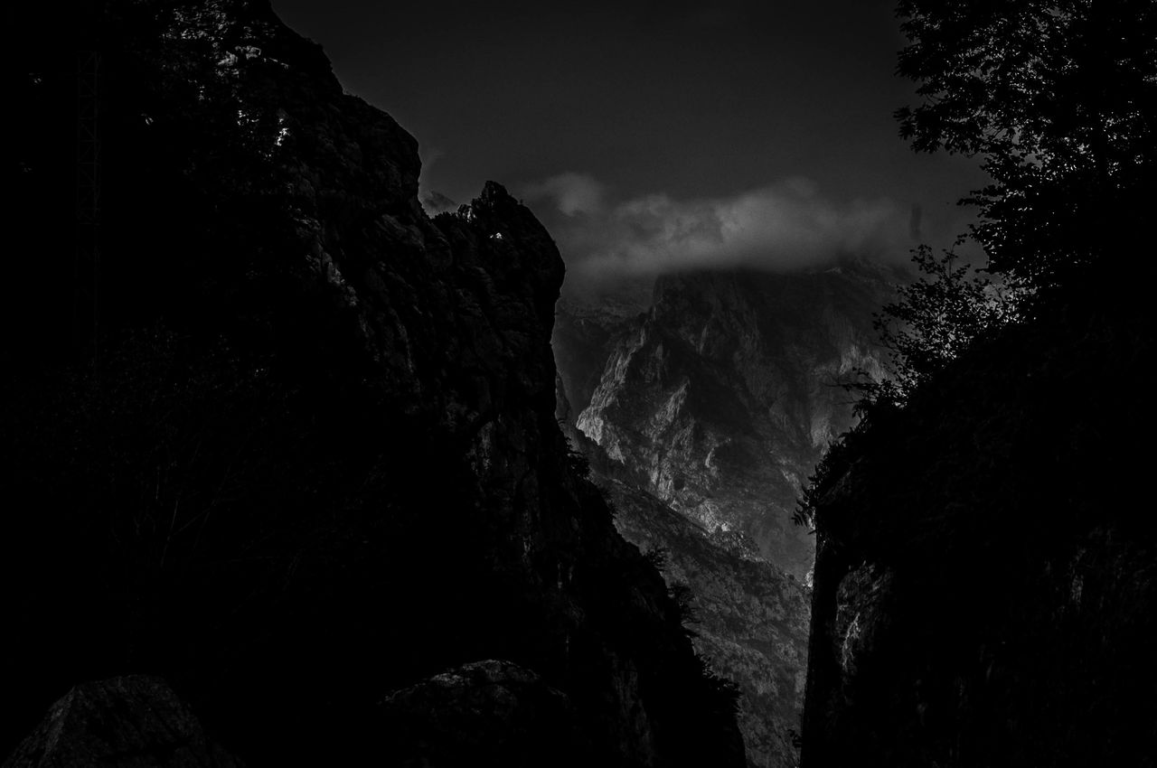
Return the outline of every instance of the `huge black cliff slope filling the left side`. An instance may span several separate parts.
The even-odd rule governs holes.
[[[93,364],[53,335],[90,337],[84,312],[13,296],[39,338],[0,414],[5,485],[36,500],[0,552],[25,712],[3,748],[76,681],[146,671],[249,762],[389,762],[383,729],[437,721],[405,702],[473,711],[485,675],[455,678],[457,709],[413,692],[486,660],[574,718],[557,765],[742,765],[731,697],[567,460],[562,263],[533,215],[491,183],[428,219],[415,141],[264,0],[108,6],[78,32],[102,53]],[[50,43],[19,94],[46,124],[76,93]],[[54,138],[21,148],[16,191],[44,199],[36,269],[67,295]],[[531,760],[511,717],[471,722]]]

